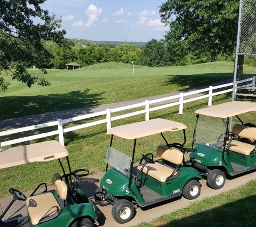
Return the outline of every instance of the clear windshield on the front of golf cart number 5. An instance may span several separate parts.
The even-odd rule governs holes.
[[[117,171],[128,177],[130,176],[130,162],[132,162],[132,158],[128,155],[115,150],[113,147],[109,147],[104,160]]]

